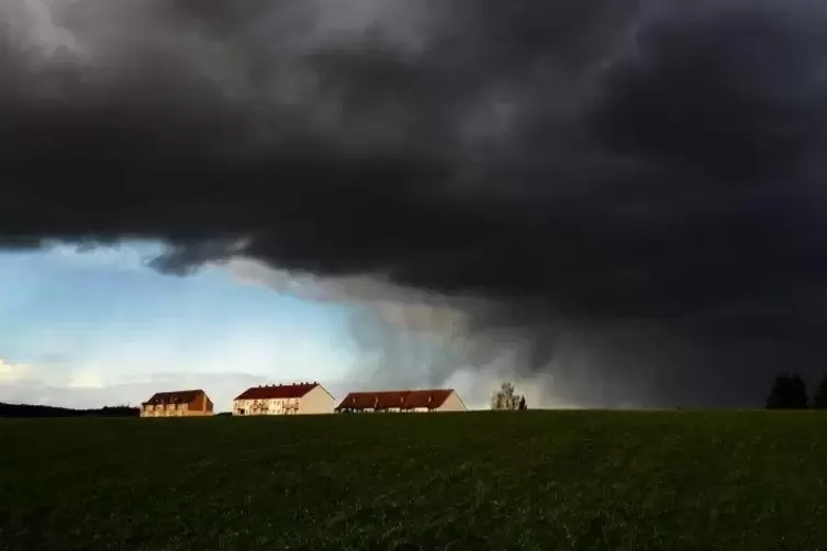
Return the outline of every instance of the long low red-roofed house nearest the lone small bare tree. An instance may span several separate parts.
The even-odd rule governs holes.
[[[351,412],[465,412],[454,389],[424,391],[351,392],[336,407]]]

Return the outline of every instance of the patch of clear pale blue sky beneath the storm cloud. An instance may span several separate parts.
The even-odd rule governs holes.
[[[346,305],[243,283],[222,267],[163,276],[144,266],[158,251],[1,254],[0,401],[136,403],[195,385],[217,404],[248,384],[346,384]]]

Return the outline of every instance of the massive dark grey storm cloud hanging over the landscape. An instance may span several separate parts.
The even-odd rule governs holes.
[[[489,297],[582,396],[827,362],[819,2],[111,4],[0,9],[4,243]]]

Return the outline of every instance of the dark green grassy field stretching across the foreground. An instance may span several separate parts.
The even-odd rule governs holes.
[[[827,415],[0,420],[0,548],[827,549]]]

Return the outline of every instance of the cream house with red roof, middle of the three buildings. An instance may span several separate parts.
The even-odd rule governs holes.
[[[332,414],[336,398],[321,384],[266,384],[253,386],[233,401],[233,415]]]

